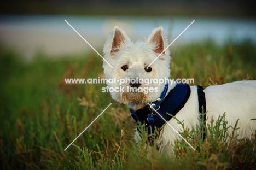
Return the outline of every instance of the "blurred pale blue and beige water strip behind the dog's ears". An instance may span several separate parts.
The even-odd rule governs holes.
[[[90,47],[69,27],[67,20],[91,45],[102,49],[115,25],[133,40],[147,38],[163,26],[169,42],[193,20],[194,24],[173,45],[202,42],[211,38],[219,45],[227,40],[256,43],[256,19],[198,16],[0,16],[0,42],[31,57],[37,49],[49,54],[79,53]],[[99,51],[101,53],[101,51]]]

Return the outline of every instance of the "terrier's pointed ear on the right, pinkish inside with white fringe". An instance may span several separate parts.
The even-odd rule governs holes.
[[[158,28],[155,28],[150,34],[150,36],[148,37],[148,42],[155,43],[156,45],[156,48],[154,50],[155,53],[160,54],[165,49],[165,40],[164,40],[163,32],[164,32],[164,28],[158,27]],[[165,54],[165,52],[163,52],[162,54]]]

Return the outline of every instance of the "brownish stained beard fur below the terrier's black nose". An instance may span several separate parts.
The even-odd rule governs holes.
[[[143,92],[124,92],[120,95],[119,102],[120,103],[129,103],[129,102],[136,102],[136,103],[147,103],[148,96]]]

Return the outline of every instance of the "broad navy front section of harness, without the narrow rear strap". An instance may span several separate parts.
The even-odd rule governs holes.
[[[161,102],[158,113],[166,120],[169,121],[181,110],[190,96],[190,87],[188,84],[176,84],[176,86],[167,94],[164,101]],[[131,112],[131,109],[130,109]],[[137,130],[142,126],[148,133],[148,141],[153,142],[158,138],[159,132],[165,121],[153,110],[149,105],[142,109],[131,112],[131,116],[137,122]],[[155,132],[157,132],[155,134]]]

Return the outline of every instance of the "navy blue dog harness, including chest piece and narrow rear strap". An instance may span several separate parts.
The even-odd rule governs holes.
[[[179,83],[176,84],[166,96],[167,91],[168,84],[165,85],[165,89],[162,91],[160,97],[155,102],[152,102],[151,105],[166,121],[169,121],[188,101],[190,96],[190,86],[188,84]],[[203,87],[197,86],[197,94],[199,98],[199,112],[205,113],[206,102]],[[158,138],[161,127],[165,124],[165,121],[155,113],[148,104],[144,108],[136,110],[136,112],[130,109],[130,113],[132,118],[137,122],[137,130],[140,131],[139,126],[143,126],[144,130],[148,132],[148,141],[150,143]],[[204,137],[205,133],[203,133],[203,138]]]

